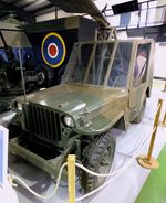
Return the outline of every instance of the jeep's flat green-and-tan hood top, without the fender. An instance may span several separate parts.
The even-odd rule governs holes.
[[[59,85],[28,95],[28,101],[64,111],[73,117],[107,104],[124,101],[125,89],[82,85]],[[110,106],[111,107],[111,106]]]

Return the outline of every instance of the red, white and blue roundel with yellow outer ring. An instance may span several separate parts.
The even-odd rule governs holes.
[[[45,64],[59,67],[65,58],[65,43],[55,32],[45,35],[41,45],[41,54]]]

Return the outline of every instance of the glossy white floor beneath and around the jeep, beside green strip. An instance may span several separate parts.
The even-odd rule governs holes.
[[[113,171],[124,168],[131,157],[136,152],[137,148],[143,145],[143,149],[139,154],[145,154],[148,149],[148,141],[146,140],[143,143],[143,140],[146,136],[149,136],[153,118],[157,109],[158,98],[166,98],[166,95],[160,90],[160,88],[154,88],[151,99],[147,100],[146,111],[143,119],[143,122],[139,125],[133,124],[128,130],[121,131],[113,129],[111,132],[117,138],[116,154],[115,161],[113,164]],[[166,100],[166,99],[165,99]],[[163,114],[166,110],[166,104],[163,107]],[[9,115],[8,115],[9,116]],[[162,115],[163,117],[163,115]],[[3,116],[3,118],[6,118]],[[6,119],[4,119],[6,120]],[[158,127],[156,142],[153,151],[155,158],[158,157],[165,141],[166,141],[166,128]],[[35,168],[34,165],[21,160],[15,159],[14,156],[10,156],[9,163],[10,173],[14,173],[21,177],[32,190],[43,195],[50,194],[53,191],[54,183],[50,179],[50,175],[43,172],[42,170]],[[116,179],[111,178],[110,184],[106,185],[102,191],[97,192],[91,197],[87,197],[82,203],[107,203],[107,197],[110,202],[114,203],[134,203],[137,195],[141,192],[142,186],[145,183],[146,178],[148,177],[151,170],[142,168],[136,159],[134,159],[131,164],[121,171],[121,174]],[[27,189],[19,186],[17,189],[17,194],[19,203],[42,203],[43,200],[39,200],[34,195],[30,194]],[[80,192],[79,181],[76,182],[76,196],[82,196]],[[61,182],[58,194],[50,200],[44,201],[45,203],[64,203],[68,202],[68,188],[65,182]],[[144,203],[144,202],[143,202]]]

